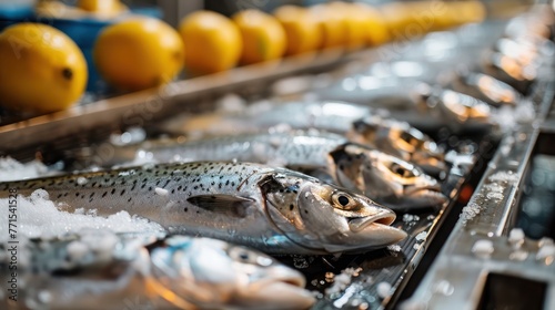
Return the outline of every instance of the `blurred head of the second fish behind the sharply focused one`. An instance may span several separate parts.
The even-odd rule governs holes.
[[[370,145],[422,167],[431,175],[446,174],[445,154],[427,135],[406,122],[366,116],[353,123],[347,138]]]

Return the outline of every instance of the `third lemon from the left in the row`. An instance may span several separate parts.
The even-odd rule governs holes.
[[[211,11],[194,12],[181,21],[179,32],[188,49],[185,68],[193,74],[224,71],[239,62],[241,33],[224,16]]]

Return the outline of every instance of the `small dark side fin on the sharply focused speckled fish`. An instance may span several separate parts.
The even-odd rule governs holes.
[[[192,196],[186,202],[208,211],[239,218],[246,217],[246,209],[254,205],[252,198],[223,194]]]

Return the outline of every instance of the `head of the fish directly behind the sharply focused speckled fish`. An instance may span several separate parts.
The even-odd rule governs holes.
[[[330,152],[333,169],[343,186],[362,188],[364,195],[395,210],[440,207],[447,202],[437,179],[398,157],[346,143]]]

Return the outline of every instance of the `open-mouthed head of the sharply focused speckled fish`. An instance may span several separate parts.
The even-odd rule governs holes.
[[[395,213],[370,198],[293,172],[261,183],[268,215],[293,242],[322,252],[365,251],[397,242]]]

